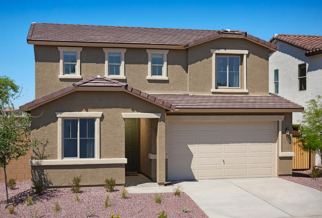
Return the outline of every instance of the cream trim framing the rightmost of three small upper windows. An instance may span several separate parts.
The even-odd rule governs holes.
[[[166,54],[169,50],[147,49],[148,53],[148,80],[168,80]],[[152,54],[163,54],[162,76],[152,76]]]

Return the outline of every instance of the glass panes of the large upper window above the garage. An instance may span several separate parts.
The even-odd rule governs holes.
[[[239,88],[240,57],[217,56],[216,60],[216,85],[217,87]]]

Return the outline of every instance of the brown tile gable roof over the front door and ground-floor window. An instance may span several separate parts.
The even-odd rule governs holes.
[[[84,79],[82,81],[73,83],[72,85],[70,85],[70,86],[68,86],[68,87],[66,87],[64,89],[58,90],[58,91],[53,92],[53,93],[51,93],[49,95],[43,96],[42,98],[35,99],[32,102],[29,102],[29,103],[27,103],[27,104],[25,104],[23,106],[20,106],[20,109],[34,108],[38,104],[54,100],[56,97],[59,97],[59,96],[64,95],[64,94],[67,94],[67,93],[77,89],[77,87],[121,87],[124,90],[132,92],[133,94],[138,95],[141,98],[145,98],[145,99],[148,99],[150,101],[153,101],[156,104],[159,104],[159,105],[161,105],[161,106],[163,106],[165,108],[168,108],[170,110],[175,109],[175,106],[171,105],[170,103],[167,103],[167,102],[165,102],[165,101],[163,101],[161,99],[158,99],[158,98],[156,98],[156,97],[154,97],[152,95],[149,95],[148,93],[141,92],[140,90],[135,89],[135,88],[127,85],[126,83],[122,83],[120,81],[110,79],[110,78],[107,78],[105,76],[94,76],[94,77],[87,78],[87,79]]]

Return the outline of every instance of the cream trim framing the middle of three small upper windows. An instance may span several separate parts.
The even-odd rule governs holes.
[[[103,48],[105,53],[105,76],[111,79],[126,79],[125,77],[125,52],[126,49]],[[108,53],[121,53],[120,75],[109,75],[108,72]]]

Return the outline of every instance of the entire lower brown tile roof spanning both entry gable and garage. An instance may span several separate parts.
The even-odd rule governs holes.
[[[291,101],[275,94],[270,95],[189,95],[189,94],[148,94],[129,86],[126,83],[94,76],[56,91],[50,95],[36,99],[21,109],[31,109],[39,104],[54,100],[68,94],[77,87],[121,87],[141,98],[155,102],[169,110],[174,109],[303,109]]]

